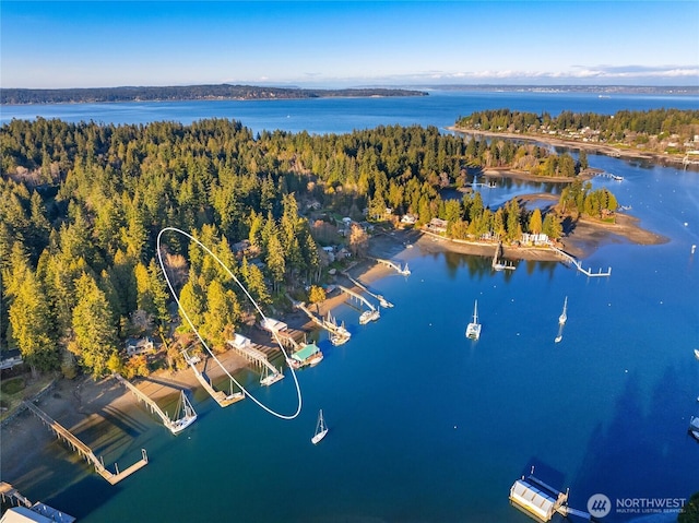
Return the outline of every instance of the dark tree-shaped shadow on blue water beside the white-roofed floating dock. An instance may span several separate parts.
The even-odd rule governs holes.
[[[647,409],[639,376],[629,376],[609,426],[600,423],[593,431],[570,487],[571,497],[576,495],[572,507],[580,504],[585,510],[590,496],[604,494],[612,501],[612,512],[604,521],[630,521],[650,512],[625,512],[625,502],[689,498],[697,490],[699,444],[687,432],[692,397],[686,402],[678,397],[685,393],[680,372],[666,369]],[[687,412],[683,412],[685,404]]]

